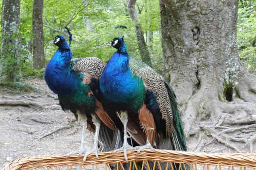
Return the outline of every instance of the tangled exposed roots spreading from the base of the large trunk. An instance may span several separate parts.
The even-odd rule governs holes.
[[[241,153],[241,149],[237,148],[234,142],[244,143],[242,149],[249,148],[250,152],[255,152],[256,108],[254,103],[244,102],[241,99],[233,102],[218,100],[206,102],[206,97],[201,94],[200,90],[194,94],[185,108],[185,115],[190,112],[190,119],[186,121],[188,116],[185,116],[184,119],[188,135],[199,134],[196,147],[192,151],[201,151],[216,140],[236,153]],[[199,121],[195,121],[195,119]],[[202,132],[206,132],[206,134]],[[211,136],[212,139],[207,141],[205,135]]]

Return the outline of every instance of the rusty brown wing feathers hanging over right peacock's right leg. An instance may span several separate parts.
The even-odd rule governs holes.
[[[148,136],[149,142],[151,146],[153,146],[157,136],[153,115],[149,112],[145,103],[142,104],[138,113],[140,122]]]

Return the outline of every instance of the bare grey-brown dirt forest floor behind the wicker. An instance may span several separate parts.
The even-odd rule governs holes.
[[[38,88],[38,92],[0,94],[0,168],[17,158],[69,153],[80,146],[82,127],[74,115],[61,109],[57,96],[43,80],[27,82]],[[248,126],[245,130],[256,132],[255,126],[252,129],[251,125]],[[85,146],[90,149],[93,134],[86,132]],[[189,150],[207,153],[250,152],[250,147],[245,147],[244,142],[232,141],[227,145],[215,140],[210,132],[192,134],[188,139]],[[234,136],[237,136],[235,132]],[[253,145],[256,148],[256,142]]]

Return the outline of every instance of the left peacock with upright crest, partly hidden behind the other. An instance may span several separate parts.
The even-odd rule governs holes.
[[[98,157],[99,134],[101,141],[110,150],[113,130],[116,129],[101,103],[99,78],[106,63],[96,57],[72,59],[72,52],[63,35],[56,36],[53,43],[58,46],[58,50],[45,68],[44,79],[48,87],[58,95],[62,109],[73,112],[83,126],[80,149],[67,156],[85,153],[84,161],[90,153]],[[85,152],[86,128],[95,132],[95,137],[93,149]]]

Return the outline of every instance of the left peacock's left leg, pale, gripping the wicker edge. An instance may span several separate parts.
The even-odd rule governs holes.
[[[80,149],[77,151],[72,151],[70,153],[67,153],[66,156],[70,156],[71,154],[78,153],[79,155],[83,154],[85,152],[85,131],[87,128],[87,117],[85,115],[82,115],[80,112],[77,112],[78,114],[78,123],[82,125],[82,138],[81,138],[81,144]]]

